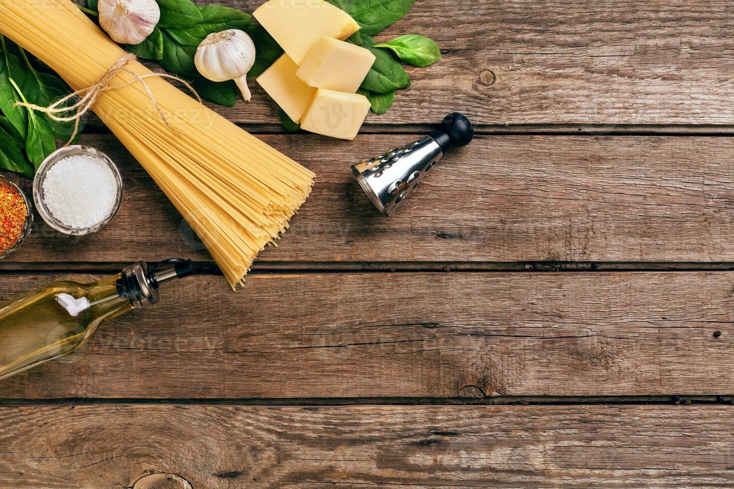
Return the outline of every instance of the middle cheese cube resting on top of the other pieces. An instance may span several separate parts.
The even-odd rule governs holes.
[[[374,59],[368,49],[324,36],[308,51],[296,76],[311,87],[354,93]]]

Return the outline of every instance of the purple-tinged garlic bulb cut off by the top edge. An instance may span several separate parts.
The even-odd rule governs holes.
[[[161,19],[156,0],[99,0],[99,23],[115,43],[140,44]]]

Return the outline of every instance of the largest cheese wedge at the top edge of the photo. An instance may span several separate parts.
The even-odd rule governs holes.
[[[252,15],[297,65],[321,37],[344,40],[360,29],[348,13],[324,0],[269,0]]]

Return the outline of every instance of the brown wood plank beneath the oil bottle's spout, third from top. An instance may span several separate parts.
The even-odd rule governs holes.
[[[733,277],[199,276],[0,398],[730,394]],[[4,276],[0,298],[39,281]]]

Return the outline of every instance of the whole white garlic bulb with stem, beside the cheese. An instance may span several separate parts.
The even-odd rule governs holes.
[[[247,72],[255,63],[255,43],[237,29],[209,34],[194,58],[196,68],[211,81],[234,80],[244,100],[250,100]]]

